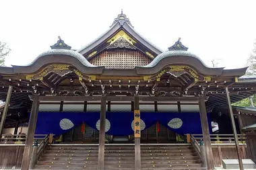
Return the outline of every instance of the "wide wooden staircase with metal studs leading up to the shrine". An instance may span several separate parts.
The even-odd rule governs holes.
[[[106,144],[104,169],[133,170],[134,145]],[[98,145],[53,144],[35,169],[98,169]],[[141,169],[205,169],[188,144],[141,144]]]

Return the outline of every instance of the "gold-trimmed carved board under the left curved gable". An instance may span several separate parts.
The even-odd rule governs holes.
[[[95,80],[95,75],[84,75],[83,73],[79,72],[77,69],[74,69],[70,65],[49,65],[48,67],[44,68],[39,73],[26,75],[27,80],[42,80],[43,77],[48,75],[49,73],[56,73],[60,77],[63,77],[69,73],[75,73],[78,76],[79,81],[83,79],[92,79]]]

